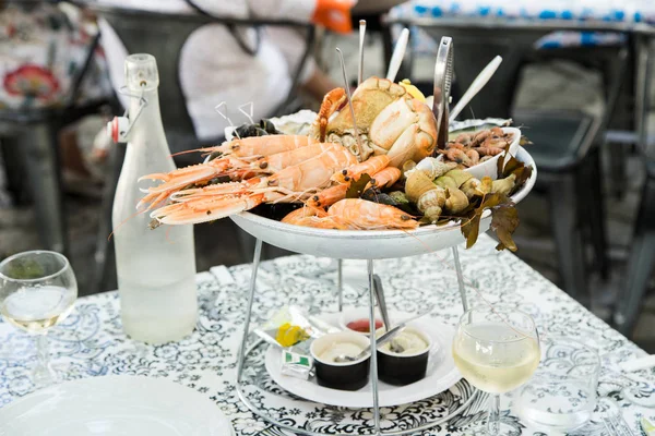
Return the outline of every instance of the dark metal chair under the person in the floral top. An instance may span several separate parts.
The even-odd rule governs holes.
[[[67,225],[61,189],[58,133],[66,125],[90,113],[99,113],[108,104],[102,99],[76,105],[80,85],[88,71],[99,36],[88,47],[86,60],[76,72],[62,107],[0,111],[0,137],[10,179],[16,191],[27,189],[36,210],[37,230],[44,247],[67,253]],[[23,175],[25,172],[25,175]],[[13,183],[12,183],[13,181]]]

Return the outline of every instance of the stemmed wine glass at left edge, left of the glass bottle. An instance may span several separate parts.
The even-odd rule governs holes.
[[[0,313],[35,336],[37,387],[57,382],[48,353],[47,332],[73,310],[78,298],[75,275],[66,256],[48,251],[15,254],[0,263]]]

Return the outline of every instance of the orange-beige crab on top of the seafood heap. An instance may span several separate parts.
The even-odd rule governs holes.
[[[370,77],[353,94],[361,153],[355,137],[353,117],[344,88],[323,98],[312,135],[320,142],[342,144],[359,161],[372,155],[389,155],[391,166],[430,156],[437,145],[437,123],[430,108],[407,89],[386,78]],[[336,116],[331,117],[336,112]]]

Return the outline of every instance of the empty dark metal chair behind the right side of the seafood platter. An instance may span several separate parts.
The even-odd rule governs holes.
[[[412,24],[412,23],[404,23]],[[493,28],[466,26],[420,26],[436,40],[449,35],[455,40],[455,77],[458,87],[465,89],[479,71],[491,59],[501,55],[503,62],[489,84],[473,99],[466,113],[475,118],[513,118],[516,125],[529,126],[528,137],[535,143],[531,147],[539,168],[537,189],[548,193],[551,209],[551,228],[557,244],[559,274],[564,290],[575,299],[587,296],[587,259],[584,250],[585,237],[594,246],[595,266],[603,277],[609,274],[606,253],[604,206],[600,195],[600,168],[598,146],[600,132],[612,113],[622,74],[612,74],[607,105],[603,119],[583,113],[561,111],[513,112],[514,84],[521,66],[534,53],[534,43],[544,35],[543,29],[513,31],[512,37],[499,34]],[[620,57],[627,56],[624,48],[614,49]],[[591,57],[598,53],[585,50]],[[555,52],[558,57],[565,55]],[[576,53],[579,55],[579,53]],[[608,65],[620,66],[621,62]],[[469,112],[467,111],[469,110]],[[590,193],[581,193],[585,186]],[[585,216],[581,214],[585,211]]]

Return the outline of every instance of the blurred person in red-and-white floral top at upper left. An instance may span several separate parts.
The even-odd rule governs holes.
[[[94,29],[82,12],[41,1],[0,1],[0,109],[66,105],[91,48]],[[102,62],[80,84],[80,100],[107,95]]]

